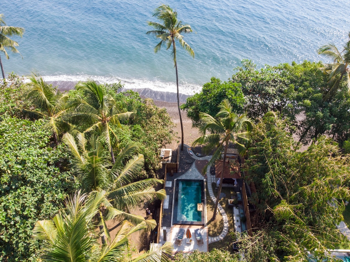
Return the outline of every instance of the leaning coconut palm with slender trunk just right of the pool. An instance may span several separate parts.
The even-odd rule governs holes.
[[[220,184],[218,194],[216,197],[214,214],[212,220],[216,217],[216,210],[219,203],[219,196],[221,193],[224,170],[226,165],[226,154],[229,147],[229,143],[233,143],[238,147],[239,151],[244,154],[245,145],[240,141],[247,141],[248,134],[252,128],[252,122],[245,115],[237,115],[233,113],[234,109],[228,99],[225,99],[219,105],[220,111],[216,114],[216,118],[206,113],[200,113],[200,119],[203,122],[200,132],[202,136],[198,137],[193,142],[193,145],[205,144],[203,150],[208,152],[216,148],[215,153],[211,157],[206,167],[215,163],[216,160],[221,159],[222,151],[223,155],[223,168],[220,175]],[[209,134],[207,132],[209,131]]]

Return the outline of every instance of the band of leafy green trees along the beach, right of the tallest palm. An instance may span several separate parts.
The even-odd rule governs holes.
[[[322,63],[304,61],[301,64],[266,65],[257,69],[249,60],[243,60],[229,82],[211,78],[200,93],[187,99],[182,109],[199,127],[199,113],[215,116],[218,105],[229,99],[235,111],[244,111],[255,121],[274,111],[289,119],[289,129],[308,144],[320,135],[329,135],[341,146],[350,138],[350,95],[346,83],[337,84],[332,95],[325,99],[334,86],[321,68]]]

